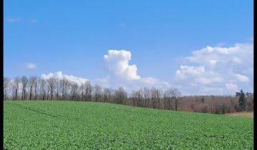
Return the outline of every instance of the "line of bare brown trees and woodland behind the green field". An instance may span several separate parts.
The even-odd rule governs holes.
[[[242,90],[235,96],[182,96],[175,88],[143,87],[128,94],[123,87],[103,88],[90,81],[84,84],[68,79],[41,79],[37,76],[4,77],[4,100],[71,100],[126,104],[153,109],[198,111],[225,114],[235,111],[253,111],[253,94]]]

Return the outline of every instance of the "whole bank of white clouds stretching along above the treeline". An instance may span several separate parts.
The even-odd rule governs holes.
[[[233,94],[240,89],[253,91],[253,43],[233,46],[206,46],[183,57],[183,63],[174,71],[172,83],[152,76],[140,76],[136,64],[130,64],[131,51],[112,49],[104,55],[104,68],[109,76],[93,79],[91,82],[101,86],[132,91],[143,86],[160,89],[176,87],[183,94]],[[66,77],[77,84],[88,79],[63,74],[61,71],[42,74],[46,79],[56,76]]]

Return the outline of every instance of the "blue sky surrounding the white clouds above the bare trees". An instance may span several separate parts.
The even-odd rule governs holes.
[[[62,71],[92,82],[107,80],[113,74],[104,65],[104,55],[110,49],[123,49],[130,51],[129,65],[136,65],[141,78],[151,77],[181,88],[188,86],[183,79],[176,79],[181,65],[193,69],[205,65],[183,61],[193,51],[206,46],[252,44],[252,38],[250,0],[4,1],[4,75],[9,78]],[[243,66],[252,68],[253,64]],[[241,84],[223,76],[215,88],[234,84],[251,91],[253,77],[231,67],[233,76],[247,76],[249,81]],[[202,91],[197,92],[205,94]],[[233,90],[221,91],[213,92],[230,94]]]

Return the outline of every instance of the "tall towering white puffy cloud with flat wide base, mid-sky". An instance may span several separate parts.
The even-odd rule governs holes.
[[[131,91],[143,86],[154,86],[161,89],[170,87],[167,81],[160,81],[153,77],[141,77],[137,74],[136,64],[129,64],[131,51],[109,50],[104,55],[104,62],[109,76],[104,79],[97,79],[96,83],[109,85],[114,88],[124,86],[124,89]]]

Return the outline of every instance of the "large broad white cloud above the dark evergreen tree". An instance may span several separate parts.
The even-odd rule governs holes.
[[[206,46],[183,60],[176,70],[176,84],[186,93],[232,94],[253,87],[253,43]]]

